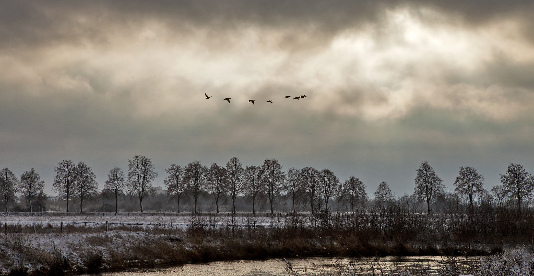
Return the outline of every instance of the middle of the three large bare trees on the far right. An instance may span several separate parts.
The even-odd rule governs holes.
[[[469,198],[469,206],[473,210],[473,196],[484,194],[486,190],[482,187],[484,177],[473,167],[460,167],[459,175],[454,180],[454,193]]]

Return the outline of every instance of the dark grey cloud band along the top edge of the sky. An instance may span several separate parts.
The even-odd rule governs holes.
[[[384,9],[430,7],[483,24],[501,17],[523,19],[531,33],[532,1],[6,1],[0,9],[2,45],[105,43],[116,25],[137,28],[146,20],[178,32],[195,28],[231,30],[244,25],[307,30],[328,39],[347,28],[381,20]],[[115,26],[114,26],[115,25]],[[288,39],[290,39],[288,37]]]

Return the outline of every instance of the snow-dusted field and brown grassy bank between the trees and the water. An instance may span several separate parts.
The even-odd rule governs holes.
[[[0,271],[60,275],[282,257],[487,256],[530,242],[514,233],[469,232],[475,224],[465,216],[106,216],[2,217],[8,227],[0,235]]]

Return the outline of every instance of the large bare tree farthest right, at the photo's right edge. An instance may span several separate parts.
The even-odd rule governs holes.
[[[534,179],[523,165],[510,163],[500,181],[507,193],[517,201],[517,213],[521,214],[521,201],[532,197]]]

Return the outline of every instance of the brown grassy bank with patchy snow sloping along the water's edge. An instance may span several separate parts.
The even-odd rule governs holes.
[[[356,239],[255,240],[109,231],[71,234],[8,234],[0,237],[0,265],[30,275],[98,273],[156,265],[216,260],[334,256],[490,255],[499,252],[478,244],[469,247],[421,247],[387,243],[360,244]]]

